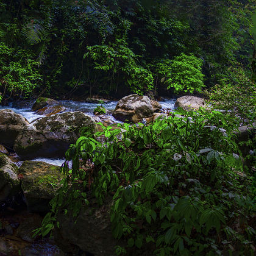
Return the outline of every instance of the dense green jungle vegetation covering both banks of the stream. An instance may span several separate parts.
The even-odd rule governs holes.
[[[224,110],[85,130],[35,234],[112,196],[113,236],[126,241],[117,255],[255,254],[255,137],[233,132],[255,120],[254,10],[252,0],[1,1],[4,104],[201,93]]]

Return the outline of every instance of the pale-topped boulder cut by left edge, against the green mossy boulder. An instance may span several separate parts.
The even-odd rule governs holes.
[[[0,154],[0,202],[20,192],[18,167],[4,154]]]

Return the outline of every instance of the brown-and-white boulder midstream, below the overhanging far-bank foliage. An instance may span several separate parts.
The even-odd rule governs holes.
[[[118,101],[113,116],[120,121],[138,123],[143,118],[148,118],[154,113],[151,100],[148,96],[131,94]]]

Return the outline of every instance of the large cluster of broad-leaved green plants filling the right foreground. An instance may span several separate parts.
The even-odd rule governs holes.
[[[117,253],[254,254],[255,181],[243,172],[231,119],[179,109],[152,124],[102,129],[103,143],[87,132],[66,152],[63,187],[38,233],[54,228],[59,211],[77,216],[113,196],[113,236],[127,241]]]

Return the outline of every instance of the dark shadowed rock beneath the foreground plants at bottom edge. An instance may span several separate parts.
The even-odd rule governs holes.
[[[112,236],[110,222],[111,199],[102,207],[84,207],[74,218],[72,213],[60,213],[57,216],[59,227],[54,229],[54,240],[57,246],[67,254],[79,251],[93,255],[116,255],[115,246],[121,241]],[[124,245],[124,244],[123,244]]]

